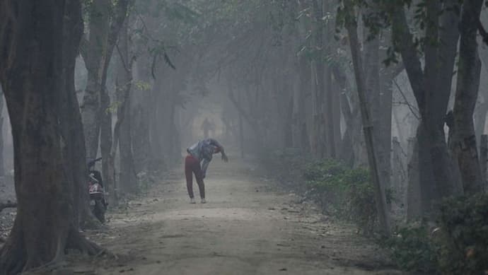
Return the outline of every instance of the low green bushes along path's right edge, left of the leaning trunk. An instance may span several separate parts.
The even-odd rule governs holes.
[[[315,201],[323,213],[356,223],[364,235],[373,234],[378,221],[367,169],[351,169],[337,160],[311,161],[296,149],[269,152],[265,158],[273,170],[281,171],[281,182],[296,181],[294,189]]]

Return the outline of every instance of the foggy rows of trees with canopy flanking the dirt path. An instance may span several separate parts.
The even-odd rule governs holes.
[[[93,223],[87,158],[103,158],[114,203],[138,192],[145,173],[180,160],[195,101],[209,93],[243,153],[287,148],[368,165],[385,233],[386,188],[407,190],[410,219],[443,197],[484,192],[483,5],[0,1],[18,199],[0,274],[55,262],[66,249],[98,253],[78,230]],[[402,169],[407,179],[395,182]]]

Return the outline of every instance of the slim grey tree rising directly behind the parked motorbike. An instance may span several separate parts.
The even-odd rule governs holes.
[[[108,0],[93,1],[89,8],[89,35],[88,39],[83,40],[82,47],[83,59],[88,70],[88,83],[81,105],[86,157],[97,156],[100,140],[103,177],[106,188],[112,194],[115,190],[115,160],[111,157],[112,113],[109,111],[110,95],[105,83],[110,59],[130,4],[131,0],[115,3]]]

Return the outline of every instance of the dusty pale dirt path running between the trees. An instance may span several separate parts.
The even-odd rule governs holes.
[[[280,194],[252,170],[239,160],[214,160],[207,204],[188,203],[182,173],[175,170],[148,197],[132,201],[126,213],[112,214],[110,230],[89,234],[126,256],[75,272],[399,274],[385,270],[380,251],[354,229],[328,222],[310,204],[295,204],[294,194]]]

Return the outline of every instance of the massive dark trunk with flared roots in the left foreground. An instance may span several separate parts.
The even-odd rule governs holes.
[[[76,185],[85,160],[74,150],[76,137],[66,136],[68,118],[79,119],[74,63],[82,28],[79,1],[0,3],[0,49],[8,53],[0,57],[0,82],[11,118],[18,202],[0,251],[0,274],[56,262],[66,248],[95,253],[77,228]]]

